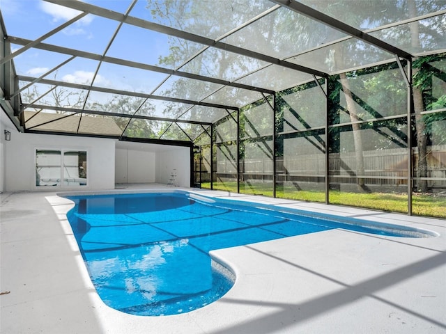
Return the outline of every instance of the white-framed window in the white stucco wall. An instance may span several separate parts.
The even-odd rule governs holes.
[[[36,186],[86,186],[86,151],[36,150]]]

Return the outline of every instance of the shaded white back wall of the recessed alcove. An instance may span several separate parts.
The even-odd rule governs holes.
[[[150,145],[147,145],[150,149]],[[116,149],[116,183],[155,182],[155,152]]]

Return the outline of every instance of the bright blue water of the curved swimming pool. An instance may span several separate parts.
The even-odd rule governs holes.
[[[332,228],[428,236],[181,191],[67,198],[75,202],[68,221],[98,294],[110,307],[133,315],[190,312],[226,294],[235,277],[211,260],[210,250]]]

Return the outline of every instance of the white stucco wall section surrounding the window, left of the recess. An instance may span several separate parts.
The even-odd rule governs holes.
[[[108,138],[24,134],[10,129],[3,143],[3,191],[55,191],[114,189],[115,141]],[[3,132],[3,129],[2,129]],[[4,137],[4,136],[3,136]],[[36,149],[87,152],[86,186],[36,186]]]

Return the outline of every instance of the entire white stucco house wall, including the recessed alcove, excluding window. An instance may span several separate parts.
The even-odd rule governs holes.
[[[10,131],[10,141],[5,140],[4,130]],[[0,191],[107,190],[114,189],[115,183],[168,184],[174,172],[177,186],[190,186],[190,148],[141,143],[120,143],[117,147],[116,143],[109,138],[20,133],[0,112]],[[36,186],[36,149],[87,151],[87,186]]]

